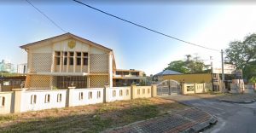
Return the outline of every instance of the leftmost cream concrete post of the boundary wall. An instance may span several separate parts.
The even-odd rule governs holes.
[[[26,90],[27,88],[13,89],[15,92],[14,113],[20,113],[22,93],[24,93]]]

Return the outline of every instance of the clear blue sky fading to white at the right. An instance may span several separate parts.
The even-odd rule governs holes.
[[[241,40],[256,31],[256,3],[82,2],[213,49],[225,49],[230,41]],[[113,49],[118,68],[155,74],[171,61],[182,60],[188,54],[197,54],[205,61],[212,55],[215,61],[220,61],[219,52],[148,32],[73,1],[31,0],[31,3],[65,31]],[[26,52],[20,45],[63,33],[25,0],[0,2],[0,21],[0,59],[9,59],[15,64],[26,62]]]

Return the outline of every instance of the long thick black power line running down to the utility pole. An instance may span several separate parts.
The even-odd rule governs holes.
[[[107,12],[105,12],[105,11],[102,11],[101,9],[96,9],[96,8],[94,8],[94,7],[91,7],[90,5],[88,5],[88,4],[86,4],[86,3],[79,2],[78,0],[73,0],[73,1],[76,2],[76,3],[83,4],[84,6],[90,8],[90,9],[95,9],[95,10],[97,10],[97,11],[103,13],[103,14],[108,14],[109,16],[112,16],[112,17],[114,17],[114,18],[116,18],[116,19],[118,19],[118,20],[123,20],[123,21],[125,21],[125,22],[127,22],[127,23],[130,23],[131,25],[139,26],[139,27],[141,27],[141,28],[143,28],[143,29],[146,29],[146,30],[148,30],[148,31],[150,31],[150,32],[155,32],[155,33],[158,33],[158,34],[160,34],[160,35],[166,36],[166,37],[168,37],[168,38],[173,38],[173,39],[175,39],[175,40],[177,40],[177,41],[180,41],[180,42],[183,42],[183,43],[188,43],[188,44],[191,44],[191,45],[194,45],[194,46],[197,46],[197,47],[201,47],[201,48],[203,48],[203,49],[210,49],[210,50],[213,50],[213,51],[219,51],[218,49],[207,48],[207,47],[205,47],[205,46],[202,46],[202,45],[199,45],[199,44],[196,44],[196,43],[190,43],[190,42],[185,41],[185,40],[183,40],[183,39],[172,37],[172,36],[167,35],[167,34],[165,34],[165,33],[163,33],[163,32],[157,32],[157,31],[155,31],[155,30],[153,30],[153,29],[151,29],[151,28],[148,28],[148,27],[146,27],[146,26],[142,26],[142,25],[139,25],[139,24],[137,24],[137,23],[135,23],[135,22],[132,22],[131,20],[125,20],[125,19],[120,18],[119,16],[116,16],[116,15],[113,15],[113,14],[109,14],[109,13],[107,13]]]

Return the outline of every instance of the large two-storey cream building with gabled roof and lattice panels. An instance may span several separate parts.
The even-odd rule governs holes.
[[[113,50],[98,43],[65,33],[20,48],[27,52],[25,87],[29,90],[113,86]],[[139,74],[135,76],[143,79]]]

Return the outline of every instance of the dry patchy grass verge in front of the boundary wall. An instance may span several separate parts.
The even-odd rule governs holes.
[[[99,132],[184,110],[188,107],[161,98],[115,101],[82,107],[0,115],[1,132]]]

